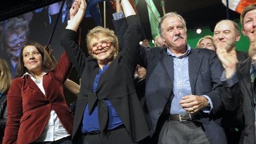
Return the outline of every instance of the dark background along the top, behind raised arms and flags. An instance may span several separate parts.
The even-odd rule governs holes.
[[[59,0],[8,0],[0,1],[0,21],[6,20],[17,15],[24,14],[25,12],[44,7]],[[162,7],[160,0],[153,0],[160,15],[162,16]],[[100,4],[101,15],[103,15],[103,4]],[[152,39],[148,10],[144,0],[138,0],[137,10],[140,15],[140,21],[145,30],[146,37]],[[187,21],[188,30],[204,27],[210,25],[211,28],[217,21],[226,19],[226,7],[220,0],[165,0],[165,10],[176,11],[183,15]],[[111,25],[111,12],[112,9],[107,2],[107,27],[112,28]],[[239,14],[229,10],[230,18],[232,20],[238,19]]]

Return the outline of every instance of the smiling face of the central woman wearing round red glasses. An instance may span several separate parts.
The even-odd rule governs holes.
[[[90,40],[90,52],[101,65],[106,65],[114,59],[115,47],[111,43],[110,37],[105,34],[98,34]]]

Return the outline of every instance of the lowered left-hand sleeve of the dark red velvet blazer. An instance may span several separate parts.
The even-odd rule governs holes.
[[[18,130],[20,128],[20,119],[23,115],[23,105],[21,98],[21,84],[20,78],[14,79],[8,91],[7,108],[8,118],[5,127],[5,135],[3,144],[16,143],[18,137]]]

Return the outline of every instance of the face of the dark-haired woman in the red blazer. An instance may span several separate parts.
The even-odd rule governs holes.
[[[43,58],[35,46],[25,46],[22,55],[24,66],[28,71],[34,74],[43,72]]]

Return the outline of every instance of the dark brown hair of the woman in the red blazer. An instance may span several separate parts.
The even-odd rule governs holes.
[[[26,73],[26,72],[31,73],[28,71],[27,68],[25,68],[24,61],[23,61],[23,50],[26,46],[34,46],[39,51],[39,53],[41,54],[42,59],[43,59],[43,71],[44,72],[50,72],[53,70],[52,59],[50,58],[50,55],[48,54],[46,49],[44,49],[44,46],[37,43],[36,41],[28,41],[25,44],[25,46],[21,49],[21,53],[20,53],[20,56],[18,59],[17,71],[16,71],[17,77],[23,76],[24,73]]]

